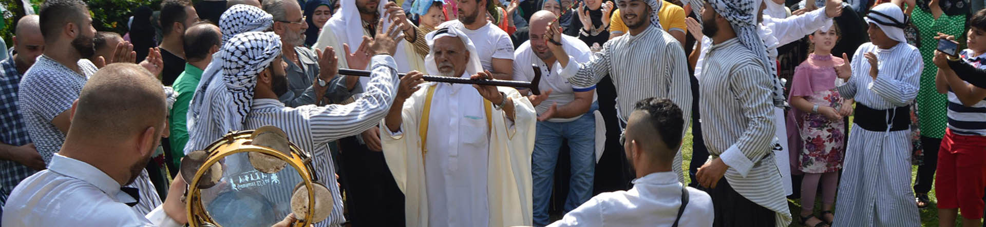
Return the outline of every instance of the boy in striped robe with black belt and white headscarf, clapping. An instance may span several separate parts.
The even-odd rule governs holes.
[[[907,44],[902,29],[907,19],[900,7],[880,4],[866,21],[872,42],[856,50],[851,67],[836,69],[847,81],[837,86],[839,93],[856,98],[856,118],[833,226],[918,226],[921,216],[911,191],[908,105],[917,96],[924,62],[918,49]]]

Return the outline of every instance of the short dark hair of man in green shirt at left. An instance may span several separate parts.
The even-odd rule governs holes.
[[[185,59],[189,62],[199,61],[209,57],[209,50],[212,46],[221,45],[223,34],[208,22],[198,22],[185,29],[182,45],[185,52]]]

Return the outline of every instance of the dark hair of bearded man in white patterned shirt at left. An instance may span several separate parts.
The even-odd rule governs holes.
[[[37,14],[44,42],[50,42],[56,40],[61,29],[69,23],[82,29],[83,19],[89,16],[89,7],[82,0],[47,0]]]

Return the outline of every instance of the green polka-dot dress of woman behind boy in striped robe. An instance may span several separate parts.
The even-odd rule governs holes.
[[[921,136],[941,139],[945,136],[945,128],[949,123],[948,95],[939,93],[935,88],[935,75],[938,67],[932,62],[935,49],[938,48],[938,32],[955,35],[956,40],[964,41],[965,16],[949,16],[942,14],[938,20],[931,12],[915,9],[911,13],[914,26],[921,32],[921,58],[924,60],[924,70],[921,72],[921,87],[918,89],[918,123],[921,124]]]

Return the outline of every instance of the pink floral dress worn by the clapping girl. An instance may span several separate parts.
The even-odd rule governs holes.
[[[836,76],[832,66],[841,63],[841,58],[811,54],[809,60],[795,68],[790,97],[801,96],[818,106],[838,110],[843,98],[835,89]],[[795,127],[801,139],[798,144],[800,147],[795,147],[801,150],[798,152],[798,170],[805,173],[827,173],[842,168],[845,121],[831,121],[822,114],[807,113],[795,108],[792,108],[789,116],[795,118]]]

